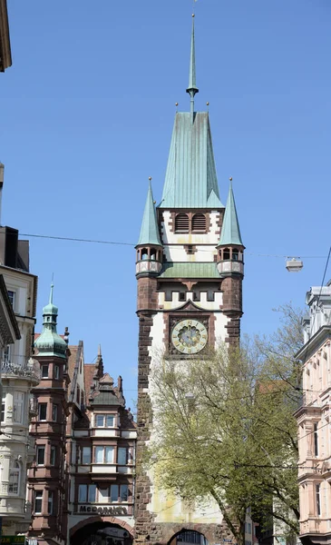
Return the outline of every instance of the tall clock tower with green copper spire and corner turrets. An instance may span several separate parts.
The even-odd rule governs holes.
[[[194,17],[194,15],[193,15]],[[171,503],[141,463],[151,438],[151,373],[165,358],[203,358],[218,342],[239,341],[244,245],[232,190],[220,201],[208,112],[196,112],[194,18],[190,47],[190,112],[178,112],[161,202],[151,180],[136,246],[139,366],[135,497],[136,543],[175,543],[199,529],[209,543],[230,540],[215,504],[202,514]],[[181,541],[188,540],[186,536]],[[201,542],[196,540],[195,543]],[[202,539],[202,538],[201,538]],[[192,541],[193,542],[193,541]]]

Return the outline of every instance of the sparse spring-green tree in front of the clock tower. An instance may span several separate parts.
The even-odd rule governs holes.
[[[248,507],[297,532],[301,313],[290,305],[280,312],[270,338],[220,345],[203,359],[162,355],[153,366],[147,463],[165,490],[216,500],[240,544]]]

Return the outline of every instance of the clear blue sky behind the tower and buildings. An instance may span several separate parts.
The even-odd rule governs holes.
[[[0,74],[3,223],[21,233],[136,243],[157,200],[175,103],[189,109],[190,0],[8,0],[13,66]],[[247,247],[242,331],[301,305],[331,244],[329,0],[199,0],[196,107],[209,101],[219,189],[229,176]],[[130,246],[31,238],[38,323],[54,272],[59,332],[98,343],[129,405],[137,362]],[[268,254],[261,257],[259,254]],[[285,258],[304,259],[290,274]],[[331,277],[331,269],[326,279]]]

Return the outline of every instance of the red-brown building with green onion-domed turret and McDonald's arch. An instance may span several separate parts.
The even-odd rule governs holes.
[[[103,372],[100,349],[95,364],[84,363],[83,342],[68,345],[68,330],[63,336],[56,331],[57,314],[52,286],[34,343],[41,381],[33,391],[29,539],[40,545],[130,545],[136,428],[122,378],[115,386]]]

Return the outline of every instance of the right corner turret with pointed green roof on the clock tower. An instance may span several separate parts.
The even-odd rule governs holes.
[[[244,250],[241,240],[235,197],[232,189],[232,178],[229,185],[229,196],[224,220],[219,237],[218,271],[222,278],[227,276],[244,276]]]

